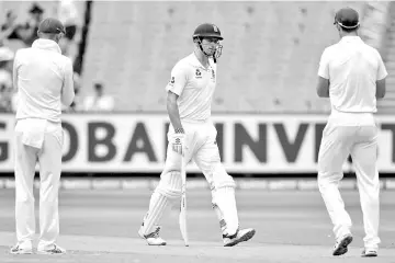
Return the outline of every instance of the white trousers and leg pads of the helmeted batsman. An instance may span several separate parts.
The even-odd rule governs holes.
[[[217,213],[223,233],[233,235],[238,229],[238,215],[235,199],[235,181],[227,174],[216,144],[216,128],[208,119],[206,122],[182,122],[185,129],[185,153],[188,163],[193,160],[204,174],[211,191],[213,208]],[[169,127],[169,141],[174,133]],[[149,210],[144,219],[144,233],[150,233],[154,226],[160,221],[170,203],[181,195],[181,156],[172,150],[169,142],[165,169],[160,182],[151,196]],[[163,197],[165,196],[165,197]]]

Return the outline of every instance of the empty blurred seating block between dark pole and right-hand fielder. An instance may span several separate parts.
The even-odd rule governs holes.
[[[316,70],[338,41],[331,21],[345,5],[362,14],[365,3],[98,1],[83,87],[102,80],[121,111],[165,111],[171,67],[191,52],[194,27],[210,21],[225,36],[213,111],[328,111],[315,94]]]

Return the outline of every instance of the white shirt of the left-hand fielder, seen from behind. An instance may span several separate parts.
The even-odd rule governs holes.
[[[19,49],[13,65],[18,90],[16,119],[42,118],[60,123],[61,103],[74,96],[72,64],[50,39],[36,39],[32,47]]]

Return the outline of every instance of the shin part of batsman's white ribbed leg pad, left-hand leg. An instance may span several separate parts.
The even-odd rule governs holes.
[[[144,235],[151,233],[154,231],[154,227],[162,218],[165,210],[170,208],[169,198],[165,195],[154,192],[149,202],[149,210],[146,214],[144,221],[143,221],[143,232]]]

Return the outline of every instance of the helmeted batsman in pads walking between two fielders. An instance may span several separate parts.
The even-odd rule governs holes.
[[[169,147],[160,182],[154,191],[149,210],[138,235],[150,245],[165,245],[158,226],[163,214],[181,196],[181,155],[185,163],[196,163],[212,192],[213,208],[218,217],[225,247],[247,241],[255,229],[239,229],[235,182],[221,163],[211,103],[216,84],[216,60],[222,54],[221,31],[213,24],[201,24],[192,36],[194,52],[177,62],[166,87],[170,118]]]

